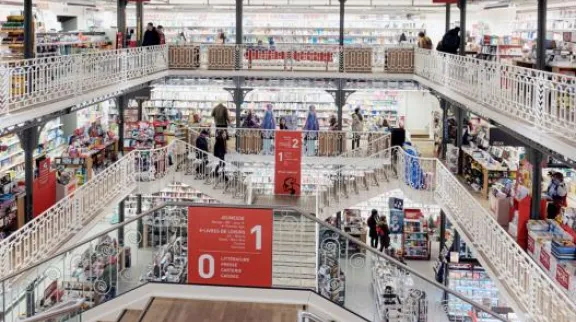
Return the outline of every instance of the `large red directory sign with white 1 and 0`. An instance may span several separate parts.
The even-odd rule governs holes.
[[[272,286],[272,209],[190,207],[188,282]]]

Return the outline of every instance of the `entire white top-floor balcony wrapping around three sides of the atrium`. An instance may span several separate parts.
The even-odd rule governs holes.
[[[575,77],[403,46],[170,45],[6,63],[0,128],[177,75],[413,80],[576,160]]]

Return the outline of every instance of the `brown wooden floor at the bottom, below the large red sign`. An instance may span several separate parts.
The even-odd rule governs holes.
[[[156,298],[142,322],[294,322],[299,305]]]

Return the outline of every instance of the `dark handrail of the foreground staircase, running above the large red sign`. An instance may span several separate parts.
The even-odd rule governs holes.
[[[395,266],[401,268],[402,270],[405,270],[407,272],[410,272],[411,275],[416,276],[422,280],[424,280],[427,283],[432,284],[434,287],[437,287],[439,289],[441,289],[442,291],[447,292],[450,295],[453,295],[455,297],[457,297],[458,299],[472,305],[473,307],[486,312],[487,314],[489,314],[490,316],[492,316],[493,318],[502,321],[502,322],[508,322],[507,319],[503,318],[502,316],[498,315],[497,313],[492,312],[489,308],[485,307],[484,305],[480,305],[478,303],[475,303],[474,301],[466,298],[464,295],[460,294],[459,292],[456,292],[454,290],[449,289],[448,287],[434,281],[431,280],[429,278],[427,278],[426,276],[420,274],[419,272],[417,272],[416,270],[412,269],[411,267],[399,262],[397,259],[395,259],[394,257],[391,257],[389,255],[387,255],[386,253],[381,253],[378,252],[374,249],[372,249],[371,247],[369,247],[368,245],[366,245],[364,242],[352,237],[350,234],[337,229],[336,227],[318,219],[316,216],[314,216],[314,214],[311,214],[305,210],[302,210],[300,208],[297,207],[287,207],[287,206],[279,206],[279,207],[270,207],[270,206],[257,206],[257,205],[228,205],[228,204],[213,204],[210,205],[211,207],[217,207],[217,208],[245,208],[245,209],[270,209],[273,208],[275,210],[279,210],[279,211],[289,211],[289,212],[296,212],[299,215],[305,217],[307,220],[313,221],[316,224],[320,225],[323,229],[328,229],[331,230],[332,232],[338,234],[340,237],[344,238],[345,240],[347,240],[348,242],[357,244],[357,246],[363,248],[366,252],[371,253],[373,256],[377,257],[377,258],[383,258],[384,260],[386,260],[387,262],[391,262],[392,264],[394,264]],[[133,223],[135,221],[138,221],[142,218],[144,218],[145,216],[151,215],[154,212],[166,208],[166,207],[192,207],[192,208],[201,208],[201,207],[205,207],[205,205],[202,204],[197,204],[197,203],[191,203],[191,202],[167,202],[161,205],[158,205],[146,212],[142,212],[141,214],[137,214],[136,216],[133,216],[131,218],[126,219],[124,222],[118,223],[116,225],[111,226],[110,228],[94,235],[91,236],[89,239],[86,239],[84,241],[81,241],[79,243],[76,243],[75,245],[69,246],[61,251],[59,251],[58,253],[40,261],[37,262],[33,265],[30,265],[26,268],[23,268],[22,270],[20,270],[19,272],[16,273],[12,273],[2,279],[0,279],[0,283],[4,284],[6,283],[9,279],[14,278],[20,274],[25,273],[26,271],[32,270],[34,268],[39,267],[40,265],[44,265],[46,263],[48,263],[50,260],[53,260],[55,258],[58,258],[59,256],[65,255],[67,253],[71,253],[72,251],[74,251],[75,249],[78,249],[79,247],[82,247],[83,245],[86,245],[88,243],[91,243],[93,240],[97,240],[102,236],[106,236],[111,232],[117,231],[119,228],[124,227],[130,223]]]

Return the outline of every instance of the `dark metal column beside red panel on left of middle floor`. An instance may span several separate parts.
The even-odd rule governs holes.
[[[24,181],[26,197],[24,198],[24,221],[34,219],[34,150],[38,147],[40,130],[38,126],[31,126],[18,133],[20,146],[24,150]]]

